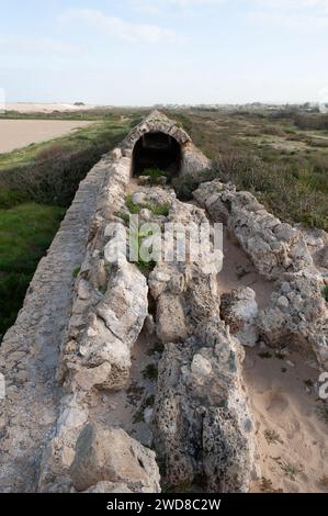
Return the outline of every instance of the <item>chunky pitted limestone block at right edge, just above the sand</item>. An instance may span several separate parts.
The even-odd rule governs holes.
[[[285,346],[316,357],[328,367],[328,303],[323,296],[324,281],[318,274],[285,274],[270,306],[258,316],[260,334],[271,346]]]

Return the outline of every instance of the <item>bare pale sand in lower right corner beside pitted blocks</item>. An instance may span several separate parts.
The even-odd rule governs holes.
[[[328,424],[320,413],[323,402],[309,386],[318,372],[297,354],[285,360],[273,354],[261,358],[261,351],[246,349],[244,367],[260,467],[252,491],[328,493]]]

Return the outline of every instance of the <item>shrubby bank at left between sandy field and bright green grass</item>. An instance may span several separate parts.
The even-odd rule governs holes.
[[[52,142],[0,155],[0,190],[68,207],[80,181],[127,133],[127,124],[103,121]]]

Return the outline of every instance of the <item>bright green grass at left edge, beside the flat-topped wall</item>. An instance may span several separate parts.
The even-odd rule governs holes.
[[[63,207],[35,203],[0,210],[0,340],[14,323],[64,214]]]

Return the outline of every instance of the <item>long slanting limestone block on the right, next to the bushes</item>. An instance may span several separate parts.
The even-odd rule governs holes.
[[[297,272],[313,267],[313,258],[303,234],[268,213],[249,192],[236,192],[227,186],[222,192],[219,181],[201,184],[195,199],[215,221],[228,224],[258,271],[268,279],[284,272]]]

